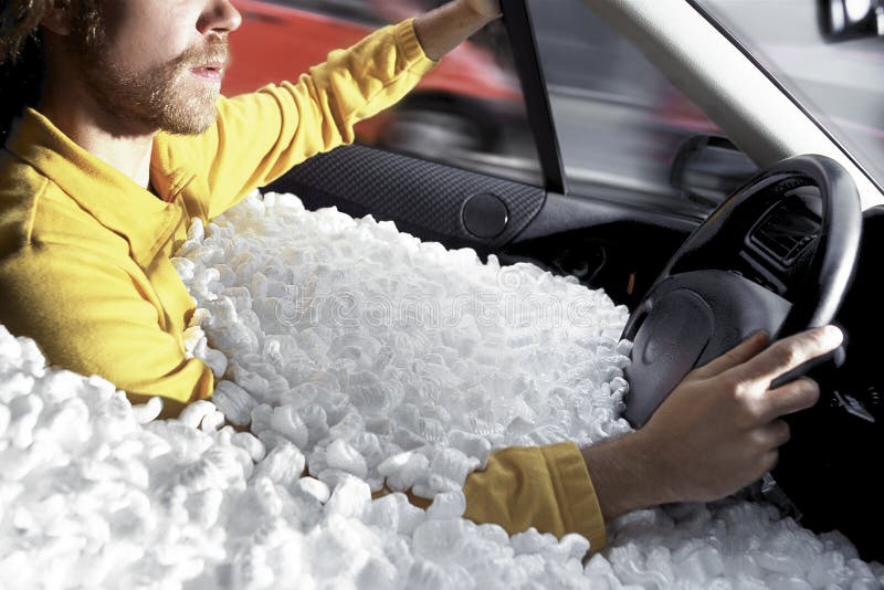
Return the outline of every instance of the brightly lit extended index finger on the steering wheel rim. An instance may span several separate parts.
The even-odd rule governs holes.
[[[734,370],[740,381],[764,380],[770,383],[808,360],[831,352],[844,335],[834,326],[822,326],[783,338]]]

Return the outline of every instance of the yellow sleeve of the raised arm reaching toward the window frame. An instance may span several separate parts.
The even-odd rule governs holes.
[[[394,104],[432,67],[413,20],[328,54],[297,82],[220,98],[218,119],[198,137],[165,136],[208,170],[209,219],[316,154],[351,144],[354,125]]]

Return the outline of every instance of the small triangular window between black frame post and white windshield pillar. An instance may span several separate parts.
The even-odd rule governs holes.
[[[678,147],[722,135],[581,0],[529,0],[569,192],[703,214],[670,181]]]

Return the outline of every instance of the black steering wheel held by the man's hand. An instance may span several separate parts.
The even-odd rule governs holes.
[[[753,333],[776,338],[830,323],[861,231],[853,179],[824,156],[788,158],[737,190],[684,242],[627,323],[630,423],[642,426],[693,368]]]

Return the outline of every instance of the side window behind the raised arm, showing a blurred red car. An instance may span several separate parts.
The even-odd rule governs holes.
[[[234,0],[228,96],[296,78],[385,23],[433,0]],[[518,77],[503,23],[446,55],[401,103],[356,127],[357,141],[541,185]]]

